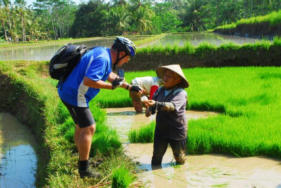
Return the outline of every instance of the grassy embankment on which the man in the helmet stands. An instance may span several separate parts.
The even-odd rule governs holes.
[[[56,80],[46,76],[47,64],[48,62],[42,61],[0,61],[0,74],[8,77],[11,83],[9,88],[8,85],[5,86],[9,90],[5,96],[8,97],[6,105],[12,105],[12,108],[23,108],[26,105],[24,111],[19,113],[24,114],[23,118],[28,120],[21,118],[19,120],[23,120],[29,126],[36,124],[36,122],[44,122],[44,124],[38,124],[32,129],[37,135],[37,140],[43,141],[38,158],[39,161],[42,159],[44,161],[38,164],[37,171],[40,177],[37,179],[37,186],[77,188],[108,182],[111,184],[112,171],[120,166],[126,166],[130,174],[136,174],[134,162],[123,154],[116,131],[110,130],[104,123],[105,111],[92,104],[91,111],[96,120],[96,132],[92,141],[90,156],[94,157],[92,161],[103,161],[97,168],[103,177],[85,181],[79,178],[77,171],[78,156],[75,152],[73,129],[71,128],[74,124],[67,109],[58,98],[55,88]],[[4,79],[1,81],[4,81]],[[13,87],[18,91],[11,92]],[[20,98],[22,94],[19,96],[19,93],[17,93],[20,91],[24,91],[26,94],[24,99]],[[2,92],[5,91],[2,90]],[[11,96],[8,95],[9,93]],[[17,95],[19,101],[17,101],[17,97],[13,98],[15,95]],[[48,163],[42,165],[46,161]],[[125,173],[117,172],[118,175],[114,176],[115,181],[123,182],[125,177],[122,175],[126,175],[127,171]],[[128,184],[128,181],[125,183]]]

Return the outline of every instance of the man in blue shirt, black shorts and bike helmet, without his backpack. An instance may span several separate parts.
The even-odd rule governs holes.
[[[117,37],[109,48],[95,47],[88,51],[71,71],[69,77],[59,86],[58,94],[70,111],[75,123],[74,142],[79,153],[81,178],[100,177],[101,174],[90,169],[89,154],[95,131],[94,117],[89,102],[100,89],[115,90],[118,87],[129,91],[145,92],[139,86],[131,86],[112,72],[115,67],[127,63],[136,54],[136,47],[127,38]],[[105,82],[105,81],[109,81]]]

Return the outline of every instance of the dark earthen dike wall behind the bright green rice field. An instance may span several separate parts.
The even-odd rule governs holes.
[[[132,62],[122,67],[126,71],[149,71],[160,66],[179,64],[182,68],[196,67],[249,67],[281,66],[281,47],[237,47],[227,49],[208,48],[201,52],[166,52],[138,53]]]

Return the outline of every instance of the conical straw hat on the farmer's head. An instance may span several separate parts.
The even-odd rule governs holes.
[[[188,88],[189,83],[188,83],[187,78],[186,78],[184,72],[182,71],[182,68],[180,67],[180,65],[167,65],[167,66],[158,67],[156,69],[156,73],[161,79],[164,79],[164,74],[167,69],[179,74],[182,77],[182,84],[183,84],[184,88]]]

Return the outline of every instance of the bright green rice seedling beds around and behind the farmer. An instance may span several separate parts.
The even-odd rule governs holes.
[[[190,83],[187,109],[221,112],[218,117],[188,122],[188,154],[281,158],[280,67],[195,68],[184,73]],[[125,77],[130,81],[147,75],[156,74],[127,72]],[[125,90],[103,90],[93,102],[101,107],[131,106]],[[151,124],[132,130],[130,141],[153,141],[155,122]]]

